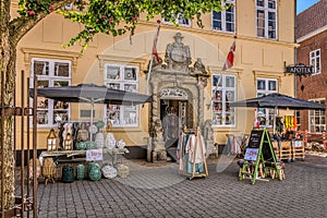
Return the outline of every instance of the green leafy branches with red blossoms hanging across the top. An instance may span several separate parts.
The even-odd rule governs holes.
[[[61,5],[58,7],[60,2]],[[141,14],[146,14],[147,21],[155,15],[161,15],[177,24],[173,14],[182,13],[186,20],[196,17],[197,25],[203,27],[202,14],[223,9],[221,0],[75,0],[71,1],[73,10],[66,10],[63,7],[65,2],[69,3],[63,0],[20,0],[19,12],[22,16],[36,19],[56,9],[64,17],[83,24],[84,29],[71,38],[64,47],[80,41],[84,50],[98,33],[118,36],[130,32],[133,35]]]

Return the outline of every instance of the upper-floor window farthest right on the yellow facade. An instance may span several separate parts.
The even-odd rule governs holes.
[[[277,0],[256,0],[256,35],[277,37]]]

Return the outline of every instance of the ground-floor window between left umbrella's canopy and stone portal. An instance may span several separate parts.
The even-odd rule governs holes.
[[[105,84],[110,88],[138,92],[138,68],[133,65],[106,64]],[[137,126],[136,106],[107,105],[107,121],[112,126]]]

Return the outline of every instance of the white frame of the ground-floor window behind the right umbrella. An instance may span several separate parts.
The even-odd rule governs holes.
[[[265,87],[264,88],[259,88],[259,82],[263,82]],[[270,82],[275,83],[275,89],[270,88]],[[278,93],[278,80],[277,78],[263,78],[263,77],[258,77],[256,81],[256,94],[257,97],[263,96],[263,95],[268,95],[271,93]],[[274,111],[275,109],[268,109],[268,108],[258,108],[257,110],[257,119],[259,122],[259,125],[262,128],[272,128],[274,124]],[[278,113],[278,111],[276,111],[276,114]],[[265,123],[261,122],[261,118],[265,119]]]

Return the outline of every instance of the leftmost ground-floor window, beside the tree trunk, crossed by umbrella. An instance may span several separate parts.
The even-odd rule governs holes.
[[[37,87],[68,86],[71,84],[71,62],[53,59],[32,59],[32,75],[37,75]],[[32,84],[33,81],[32,81]],[[33,85],[32,85],[33,86]],[[69,104],[37,98],[38,126],[52,126],[69,120]]]

